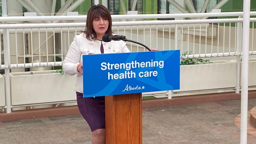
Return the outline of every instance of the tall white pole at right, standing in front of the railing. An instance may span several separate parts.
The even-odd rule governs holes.
[[[247,144],[250,0],[244,0],[240,143]]]

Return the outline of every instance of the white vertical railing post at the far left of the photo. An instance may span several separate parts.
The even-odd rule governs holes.
[[[2,0],[2,16],[7,16],[6,0]],[[10,37],[9,29],[3,30],[4,39],[4,63],[5,63],[5,97],[6,97],[6,113],[11,113],[11,85],[10,85]]]

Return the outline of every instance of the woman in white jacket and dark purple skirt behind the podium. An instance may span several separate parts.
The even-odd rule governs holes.
[[[100,4],[92,6],[87,14],[86,30],[75,36],[63,61],[66,74],[77,74],[77,105],[91,128],[92,144],[105,144],[105,97],[83,98],[82,55],[130,52],[123,41],[102,41],[104,34],[113,35],[111,27],[112,19],[108,9]]]

